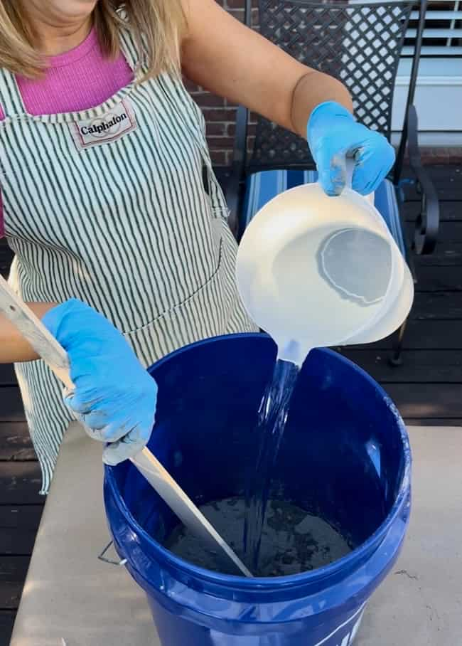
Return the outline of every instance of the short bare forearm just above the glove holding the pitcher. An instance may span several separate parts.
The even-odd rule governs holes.
[[[353,113],[350,92],[328,74],[310,70],[296,83],[291,100],[291,129],[306,138],[306,124],[320,103],[335,101]]]

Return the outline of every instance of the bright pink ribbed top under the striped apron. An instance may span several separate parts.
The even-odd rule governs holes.
[[[17,77],[23,104],[30,115],[55,115],[88,110],[107,101],[129,85],[133,72],[121,53],[117,60],[104,58],[95,31],[76,48],[53,56],[45,78]],[[0,120],[5,113],[0,105]],[[0,237],[4,235],[0,194]]]

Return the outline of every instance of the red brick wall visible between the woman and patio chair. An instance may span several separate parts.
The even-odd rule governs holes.
[[[217,2],[232,16],[244,22],[244,0],[217,0]],[[205,115],[207,139],[213,164],[228,166],[232,159],[237,105],[222,99],[222,97],[210,94],[188,81],[186,81],[186,87]],[[254,117],[252,117],[249,123],[250,135],[254,129],[254,122]]]

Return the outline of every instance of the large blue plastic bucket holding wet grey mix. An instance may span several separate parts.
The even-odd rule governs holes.
[[[268,337],[240,334],[188,346],[151,369],[159,409],[149,448],[196,504],[242,494],[275,357]],[[350,554],[296,576],[214,573],[161,546],[176,518],[131,462],[106,468],[104,500],[163,646],[350,646],[402,546],[410,467],[406,430],[380,386],[316,350],[296,386],[274,478],[358,546]]]

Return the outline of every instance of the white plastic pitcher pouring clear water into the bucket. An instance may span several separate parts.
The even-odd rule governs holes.
[[[314,347],[370,343],[407,318],[414,282],[370,196],[328,197],[319,184],[285,191],[249,223],[237,286],[279,359],[301,365]]]

